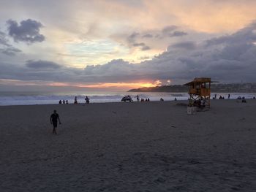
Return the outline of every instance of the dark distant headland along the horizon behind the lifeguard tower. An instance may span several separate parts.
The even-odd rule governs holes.
[[[136,88],[128,92],[187,92],[188,87],[184,85],[163,85],[152,88]],[[212,84],[213,93],[256,93],[256,83],[233,83],[233,84]]]

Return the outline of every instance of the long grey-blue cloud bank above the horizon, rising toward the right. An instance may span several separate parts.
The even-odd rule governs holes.
[[[122,59],[86,66],[85,69],[59,67],[50,61],[30,67],[1,64],[0,78],[84,83],[170,79],[174,83],[183,83],[194,77],[211,77],[220,82],[256,82],[255,30],[256,25],[252,24],[225,37],[200,43],[179,42],[139,64]],[[45,68],[57,70],[43,70]]]

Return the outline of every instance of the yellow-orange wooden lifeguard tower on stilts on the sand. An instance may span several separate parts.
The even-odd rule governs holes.
[[[184,85],[189,86],[189,107],[210,107],[211,78],[195,78]]]

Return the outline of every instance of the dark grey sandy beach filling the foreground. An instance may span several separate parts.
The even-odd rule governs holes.
[[[0,107],[0,191],[256,191],[247,101],[195,115],[181,101]]]

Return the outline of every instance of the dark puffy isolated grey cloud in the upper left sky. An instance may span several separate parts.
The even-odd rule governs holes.
[[[15,42],[27,42],[31,44],[45,40],[45,37],[39,34],[42,24],[36,20],[22,20],[20,25],[15,20],[7,20],[7,26],[8,34]]]

